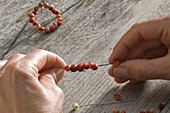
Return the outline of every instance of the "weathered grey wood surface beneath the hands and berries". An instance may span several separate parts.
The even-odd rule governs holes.
[[[47,0],[46,0],[47,1]],[[78,0],[49,0],[61,11]],[[0,52],[3,53],[28,18],[18,22],[27,11],[40,1],[0,0]],[[59,54],[68,64],[92,61],[107,63],[116,42],[136,22],[167,15],[169,0],[80,0],[64,13],[64,25],[51,34],[34,32],[30,24],[21,34],[13,53],[28,53],[42,48]],[[43,11],[38,19],[50,19],[49,12]],[[44,18],[46,16],[46,18]],[[17,21],[17,22],[16,22]],[[138,113],[141,108],[154,108],[159,113],[160,102],[170,98],[170,82],[152,80],[130,85],[117,84],[107,74],[108,67],[85,73],[66,73],[61,88],[65,93],[64,113],[70,112],[73,103],[80,105],[113,102],[114,93],[123,99],[136,101],[98,106],[84,106],[77,113],[112,113],[113,108],[125,109],[127,113]],[[170,102],[162,113],[170,112]]]

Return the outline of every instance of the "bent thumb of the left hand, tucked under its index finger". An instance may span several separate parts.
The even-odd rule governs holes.
[[[63,76],[64,70],[56,68],[44,71],[38,77],[40,83],[47,89],[48,98],[50,98],[51,103],[54,104],[52,107],[56,109],[56,113],[63,113],[64,93],[62,89],[56,85]]]

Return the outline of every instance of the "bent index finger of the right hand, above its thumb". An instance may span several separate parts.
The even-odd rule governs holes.
[[[110,56],[109,62],[115,60],[124,61],[130,54],[130,50],[137,47],[141,42],[158,40],[163,32],[163,20],[153,19],[137,23],[116,44]]]

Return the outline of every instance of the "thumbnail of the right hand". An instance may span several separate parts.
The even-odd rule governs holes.
[[[117,67],[114,69],[114,75],[116,77],[126,78],[126,69],[123,66]]]

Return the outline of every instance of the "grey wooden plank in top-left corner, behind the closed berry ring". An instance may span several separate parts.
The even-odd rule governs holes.
[[[0,1],[0,51],[3,52],[8,48],[9,44],[17,36],[18,32],[22,29],[24,24],[29,20],[27,17],[28,12],[32,11],[40,1],[24,1],[24,0],[6,0]],[[49,4],[53,4],[61,12],[65,11],[68,7],[75,3],[75,0],[51,0]],[[43,13],[37,14],[37,20],[44,23],[52,18],[49,11],[42,10]],[[44,18],[45,17],[45,18]],[[54,17],[54,16],[53,16]],[[42,21],[41,21],[42,20]],[[28,38],[30,33],[35,31],[32,25],[28,25],[20,36],[19,40]]]

